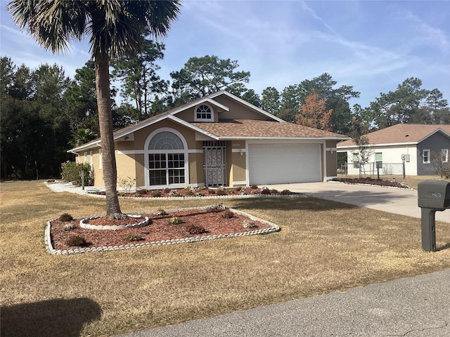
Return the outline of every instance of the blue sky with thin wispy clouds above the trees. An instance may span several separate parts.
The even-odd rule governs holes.
[[[14,26],[1,1],[0,54],[36,68],[56,62],[66,75],[89,60],[89,46],[66,55],[44,51]],[[408,77],[438,88],[450,101],[450,1],[184,1],[173,23],[163,79],[188,58],[217,55],[250,71],[248,88],[282,91],[328,72],[338,86],[353,86],[366,107]]]

